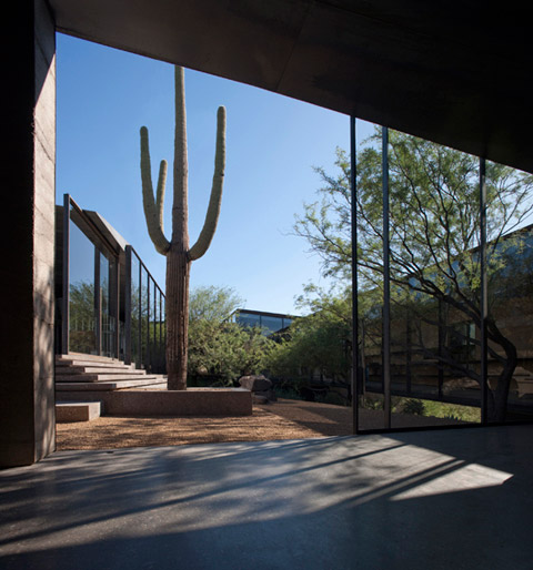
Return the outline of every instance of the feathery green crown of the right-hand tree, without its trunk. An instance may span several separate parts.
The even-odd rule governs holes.
[[[382,154],[380,132],[358,155],[358,232],[362,288],[381,286]],[[391,276],[400,287],[442,293],[453,282],[479,288],[477,159],[400,132],[390,132]],[[350,276],[350,160],[336,150],[339,174],[315,169],[322,179],[320,200],[304,205],[295,233],[323,262],[324,275]],[[500,164],[487,164],[487,238],[491,269],[501,267],[501,237],[532,212],[533,176]],[[506,242],[505,247],[516,244]],[[503,248],[503,251],[505,250]],[[416,283],[413,282],[416,278]]]

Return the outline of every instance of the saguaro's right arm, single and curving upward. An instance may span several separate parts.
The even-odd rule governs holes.
[[[225,109],[219,108],[217,113],[217,151],[214,156],[214,174],[209,199],[208,212],[202,231],[197,243],[189,251],[189,259],[199,259],[209,248],[213,240],[214,231],[220,214],[220,203],[222,200],[222,186],[224,183],[225,166]]]

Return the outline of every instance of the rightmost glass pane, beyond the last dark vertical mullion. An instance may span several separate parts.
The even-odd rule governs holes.
[[[533,180],[486,164],[487,420],[533,417]]]

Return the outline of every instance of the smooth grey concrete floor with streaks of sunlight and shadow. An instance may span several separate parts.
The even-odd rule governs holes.
[[[3,569],[532,569],[533,426],[62,451],[0,472]]]

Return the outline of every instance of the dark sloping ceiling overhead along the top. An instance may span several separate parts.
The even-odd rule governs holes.
[[[497,10],[480,10],[473,0],[50,4],[61,32],[533,172],[526,2],[501,2]]]

